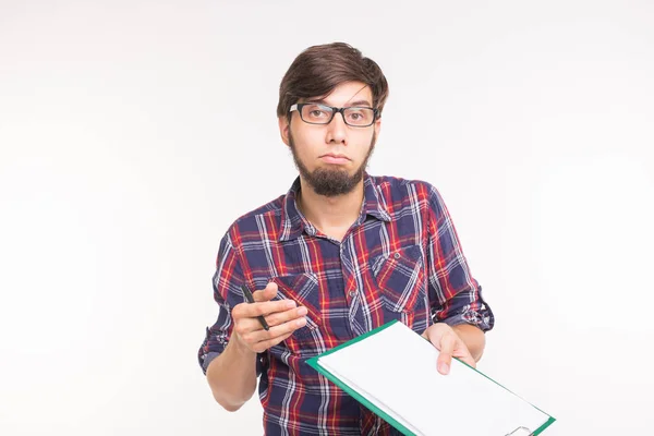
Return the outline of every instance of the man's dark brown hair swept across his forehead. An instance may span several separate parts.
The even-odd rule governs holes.
[[[291,63],[279,85],[277,116],[290,116],[289,109],[301,98],[322,97],[344,82],[362,82],[373,92],[373,107],[384,109],[388,83],[375,61],[344,43],[313,46]]]

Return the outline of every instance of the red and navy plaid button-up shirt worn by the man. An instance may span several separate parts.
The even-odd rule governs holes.
[[[207,328],[203,371],[227,346],[231,308],[251,290],[278,284],[277,299],[307,308],[304,327],[258,354],[267,435],[392,435],[380,417],[305,361],[392,319],[422,334],[429,325],[494,316],[482,300],[439,193],[428,183],[365,174],[359,219],[342,242],[298,210],[299,178],[287,195],[239,218],[221,240],[214,276],[218,320]],[[392,344],[389,344],[392,352]]]

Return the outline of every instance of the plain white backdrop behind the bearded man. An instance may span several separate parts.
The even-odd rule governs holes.
[[[262,433],[196,352],[220,238],[295,177],[279,82],[336,40],[389,81],[370,172],[450,209],[497,318],[480,370],[547,435],[649,432],[653,23],[650,0],[0,0],[0,434]]]

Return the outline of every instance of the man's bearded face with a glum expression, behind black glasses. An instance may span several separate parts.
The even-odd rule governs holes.
[[[360,82],[343,83],[328,96],[307,100],[339,108],[373,106],[371,88]],[[380,120],[367,128],[354,128],[337,113],[329,124],[308,124],[293,111],[290,124],[281,117],[279,126],[300,177],[316,194],[337,196],[351,192],[362,181]]]

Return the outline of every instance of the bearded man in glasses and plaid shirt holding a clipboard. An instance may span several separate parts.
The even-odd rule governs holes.
[[[437,371],[447,374],[452,356],[474,366],[493,328],[438,192],[365,172],[387,95],[379,66],[346,44],[300,53],[277,107],[300,177],[221,240],[218,320],[199,363],[229,411],[261,376],[267,435],[398,434],[306,359],[399,319],[440,350]]]

